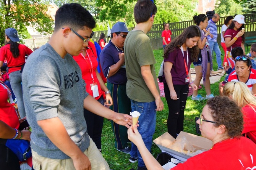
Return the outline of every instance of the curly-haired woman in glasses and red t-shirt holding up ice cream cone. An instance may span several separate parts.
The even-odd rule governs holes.
[[[202,136],[212,141],[212,149],[189,158],[172,170],[242,170],[255,167],[256,145],[241,136],[243,114],[234,101],[223,96],[209,99],[196,123]],[[147,170],[163,170],[145,147],[137,125],[128,129],[128,138],[138,147]]]

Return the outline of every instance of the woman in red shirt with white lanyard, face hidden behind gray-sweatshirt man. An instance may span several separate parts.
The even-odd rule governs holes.
[[[105,92],[107,105],[111,106],[113,100],[110,91],[106,87],[99,72],[97,71],[97,53],[92,42],[88,42],[86,49],[78,56],[74,56],[76,63],[82,71],[82,78],[86,83],[86,91],[97,101],[104,105],[103,93]],[[109,104],[110,103],[110,104]],[[104,118],[84,109],[84,118],[87,124],[87,132],[97,148],[101,151],[101,133]]]

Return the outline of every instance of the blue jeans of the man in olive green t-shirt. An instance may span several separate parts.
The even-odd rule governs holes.
[[[151,151],[153,134],[156,129],[156,102],[142,103],[131,100],[131,111],[138,111],[141,115],[139,116],[139,127],[138,131],[142,136],[144,144],[146,145],[149,152]],[[131,157],[139,157],[138,166],[144,167],[145,164],[139,153],[137,146],[131,143]]]

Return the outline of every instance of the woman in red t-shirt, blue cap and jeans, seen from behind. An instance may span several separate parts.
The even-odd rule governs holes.
[[[3,62],[6,59],[11,87],[18,102],[19,115],[23,118],[26,114],[23,104],[21,72],[25,65],[25,55],[30,55],[33,51],[26,45],[18,43],[18,32],[14,28],[5,30],[5,40],[7,42],[6,45],[0,48],[0,67],[3,66]]]

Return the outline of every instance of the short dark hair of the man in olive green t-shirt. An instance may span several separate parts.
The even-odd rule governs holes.
[[[134,19],[137,24],[146,22],[151,15],[157,13],[157,7],[151,0],[138,0],[133,9]]]

